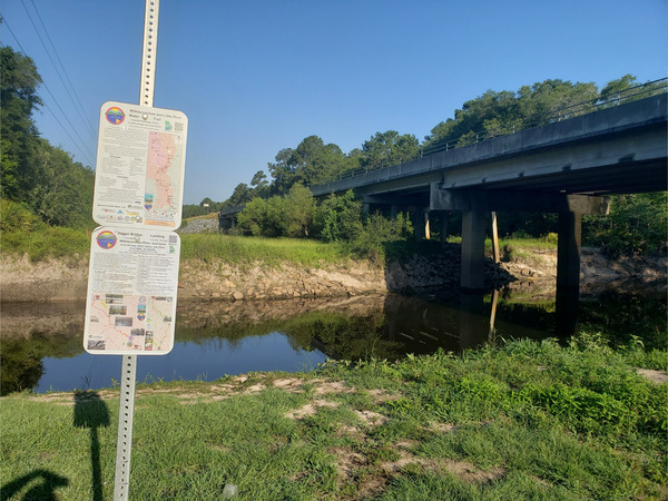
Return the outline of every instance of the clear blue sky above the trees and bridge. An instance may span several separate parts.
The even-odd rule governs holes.
[[[144,1],[0,9],[2,45],[48,87],[42,137],[94,166],[101,104],[139,100]],[[311,135],[347,153],[389,129],[422,140],[488,89],[666,77],[668,2],[161,0],[157,53],[154,106],[189,119],[185,203],[222,202]]]

